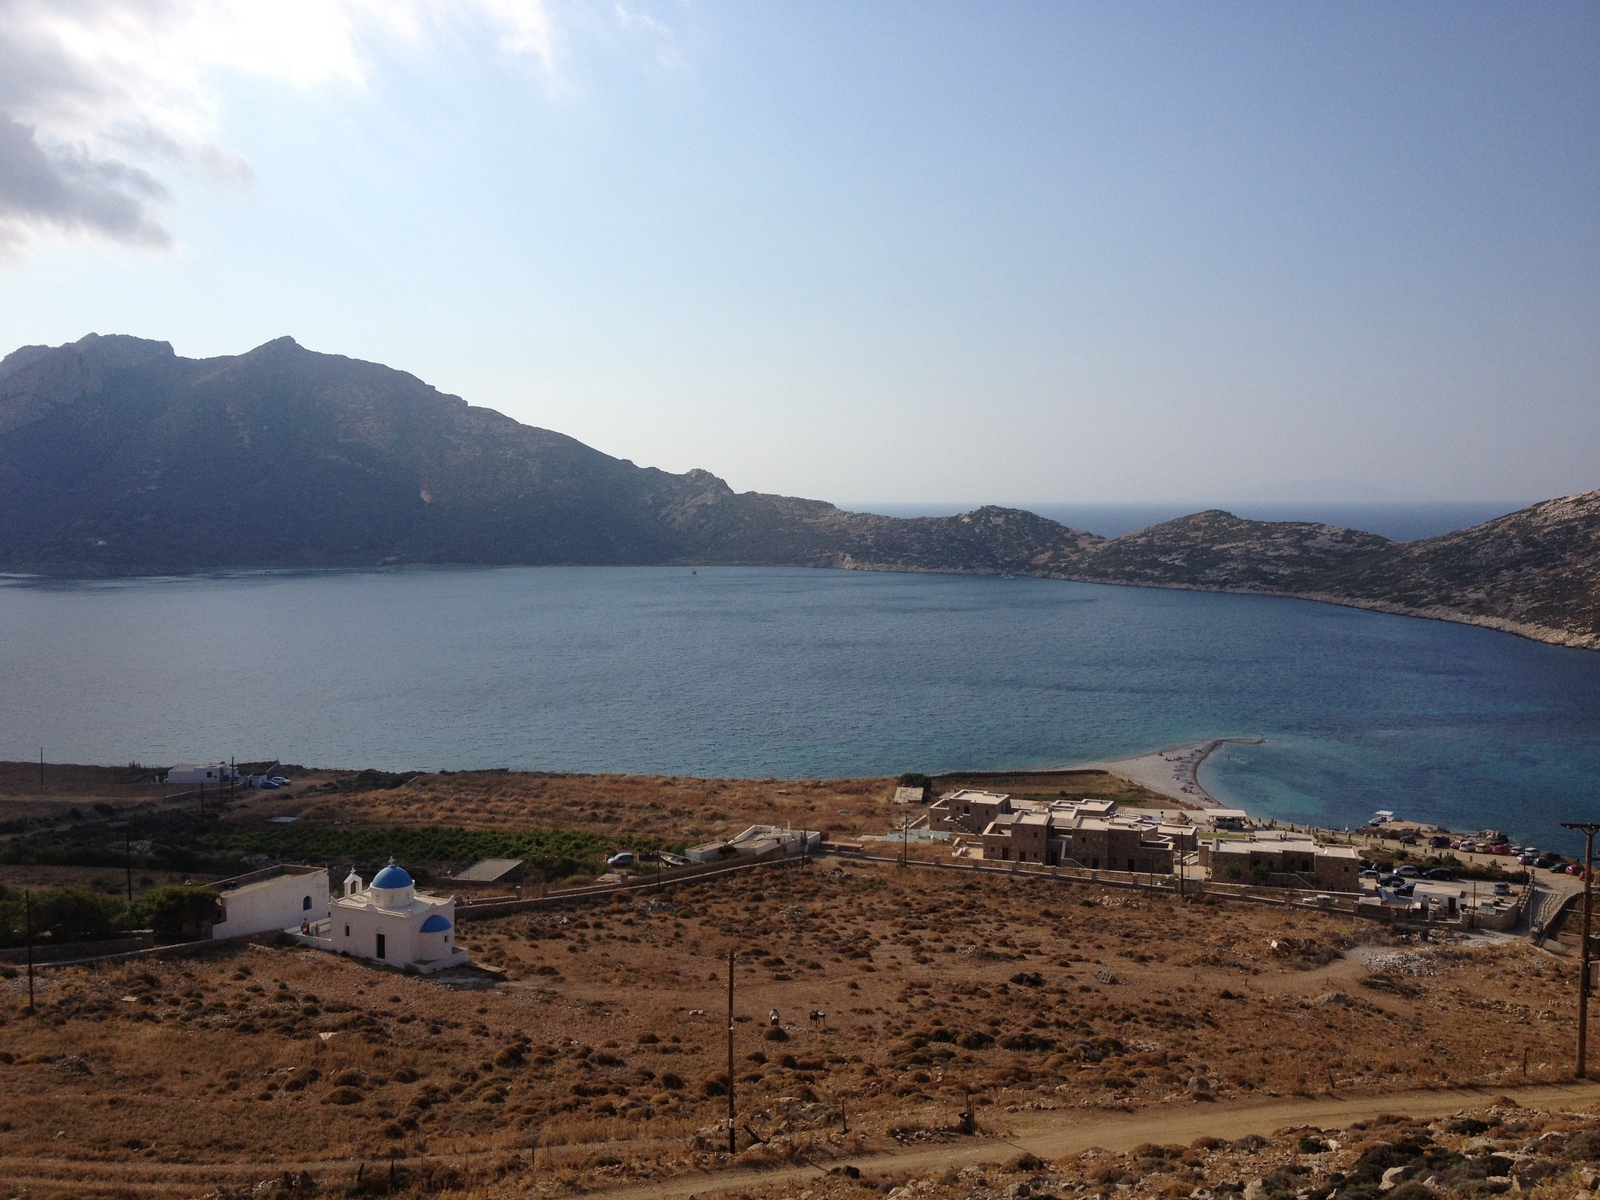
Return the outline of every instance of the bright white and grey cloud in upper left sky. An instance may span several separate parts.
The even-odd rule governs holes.
[[[45,229],[162,246],[162,176],[248,182],[214,144],[230,74],[362,86],[368,46],[467,22],[554,69],[542,0],[0,0],[0,258]]]

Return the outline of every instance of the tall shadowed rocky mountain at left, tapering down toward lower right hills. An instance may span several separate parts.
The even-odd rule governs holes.
[[[0,570],[386,563],[1024,570],[1034,514],[896,520],[602,454],[290,338],[226,358],[90,334],[0,362]]]

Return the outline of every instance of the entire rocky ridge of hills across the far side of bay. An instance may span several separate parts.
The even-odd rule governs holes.
[[[1099,538],[1021,509],[880,517],[638,467],[280,338],[90,334],[0,360],[0,570],[432,565],[1010,573],[1254,592],[1600,650],[1600,490],[1416,542],[1198,512]]]

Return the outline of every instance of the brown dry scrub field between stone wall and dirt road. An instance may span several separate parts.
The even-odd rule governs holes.
[[[730,946],[741,1125],[765,1139],[746,1154],[773,1160],[954,1138],[968,1091],[1003,1133],[1029,1109],[1194,1104],[1197,1077],[1221,1098],[1344,1094],[1515,1083],[1525,1050],[1534,1078],[1565,1066],[1571,973],[1528,947],[1422,947],[1384,968],[1424,971],[1411,995],[1362,987],[1374,965],[1354,947],[1309,970],[1270,949],[1354,931],[1322,912],[822,864],[464,925],[510,973],[488,992],[251,949],[54,971],[29,1018],[13,978],[0,1173],[50,1158],[146,1181],[182,1163],[326,1176],[317,1163],[400,1154],[515,1174],[515,1157],[562,1192],[715,1165]]]

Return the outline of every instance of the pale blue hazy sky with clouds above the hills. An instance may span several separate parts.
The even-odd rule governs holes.
[[[1600,5],[0,0],[0,350],[861,504],[1600,486]]]

